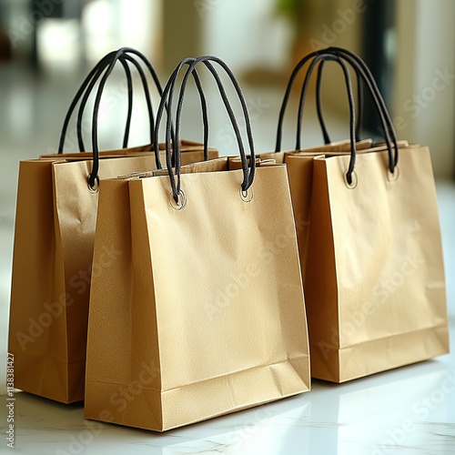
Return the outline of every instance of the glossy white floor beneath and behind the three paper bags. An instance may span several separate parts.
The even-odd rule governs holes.
[[[63,115],[79,80],[66,75],[37,81],[24,71],[0,66],[0,394],[5,394],[17,163],[56,147]],[[257,148],[270,150],[281,94],[248,88],[245,92],[254,116]],[[194,99],[190,97],[189,102]],[[211,112],[211,144],[235,152],[226,117],[220,109]],[[106,112],[101,128],[106,148],[117,147],[120,141],[115,135],[120,117]],[[345,126],[330,123],[336,138],[346,137]],[[306,143],[318,144],[314,122],[309,120],[307,125]],[[187,118],[184,126],[183,136],[200,137],[197,118]],[[136,116],[132,143],[147,142],[141,132],[144,128],[144,120]],[[293,136],[291,126],[287,131],[286,136]],[[286,146],[292,147],[291,143],[289,139]],[[438,196],[454,329],[455,185],[440,182]],[[453,348],[452,343],[452,352]],[[21,392],[15,399],[15,450],[10,453],[455,453],[455,354],[343,385],[314,381],[307,394],[164,434],[84,420],[82,405],[64,406]],[[5,429],[5,396],[0,397],[0,405],[0,426]],[[7,453],[2,433],[0,453]]]

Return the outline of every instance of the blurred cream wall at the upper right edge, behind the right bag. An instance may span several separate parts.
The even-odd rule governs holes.
[[[399,0],[394,123],[430,146],[435,174],[455,174],[455,2]]]

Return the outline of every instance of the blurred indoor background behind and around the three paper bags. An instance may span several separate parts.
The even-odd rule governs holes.
[[[275,147],[281,99],[302,56],[329,45],[359,53],[378,80],[399,138],[430,146],[446,207],[443,225],[454,232],[454,20],[453,0],[0,0],[0,352],[6,348],[18,162],[56,151],[78,86],[108,51],[136,47],[150,58],[163,83],[182,57],[223,58],[243,87],[258,152]],[[325,71],[322,99],[329,131],[333,140],[345,139],[344,82],[338,67],[328,65]],[[118,70],[106,86],[101,148],[120,147],[124,79]],[[285,149],[295,145],[298,95],[296,89]],[[139,86],[131,145],[149,141],[142,98]],[[308,104],[313,106],[306,109],[303,147],[322,144],[311,99]],[[210,97],[210,145],[233,154],[234,136],[220,106]],[[182,126],[188,139],[201,137],[197,112],[197,98],[190,93]],[[364,125],[363,136],[380,136],[369,105]],[[90,121],[85,126],[87,134]],[[72,151],[74,129],[68,136],[66,149]],[[449,235],[444,241],[448,261],[453,257],[448,248],[451,253],[455,248]],[[0,368],[4,365],[0,359]]]

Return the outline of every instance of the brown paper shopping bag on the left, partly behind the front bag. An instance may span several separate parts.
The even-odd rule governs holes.
[[[63,154],[19,167],[9,329],[15,387],[64,403],[84,399],[89,288],[97,273],[97,180],[156,166],[154,153],[144,147],[106,154],[97,153],[96,141],[92,147],[94,159],[91,153]],[[202,145],[182,147],[203,159]],[[92,187],[87,177],[94,177]],[[117,255],[106,247],[104,262]]]

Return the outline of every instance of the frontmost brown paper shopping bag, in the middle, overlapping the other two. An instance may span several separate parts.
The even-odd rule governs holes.
[[[198,61],[215,76],[210,60],[227,69],[187,59],[174,78]],[[220,158],[184,173],[177,153],[177,179],[168,169],[101,182],[94,267],[106,246],[122,253],[92,280],[88,419],[162,431],[309,389],[286,167],[255,166],[246,103],[228,74],[248,122],[249,167],[224,96],[241,169]]]

